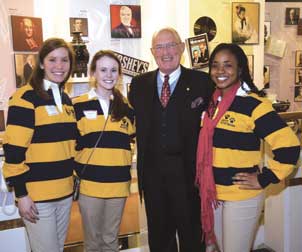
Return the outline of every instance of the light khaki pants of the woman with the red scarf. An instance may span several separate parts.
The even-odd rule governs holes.
[[[240,201],[223,201],[215,210],[215,234],[221,252],[249,252],[263,208],[264,194]]]

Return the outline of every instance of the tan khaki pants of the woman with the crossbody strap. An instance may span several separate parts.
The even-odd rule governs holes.
[[[118,252],[118,232],[126,198],[94,198],[83,194],[79,206],[85,252]]]

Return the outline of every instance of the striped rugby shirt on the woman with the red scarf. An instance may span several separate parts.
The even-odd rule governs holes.
[[[258,175],[264,188],[287,177],[300,154],[300,143],[293,131],[279,117],[271,102],[239,89],[230,108],[218,122],[213,138],[213,173],[219,200],[244,200],[261,190],[242,190],[233,185],[238,172],[255,172],[262,161],[261,140],[272,149]]]

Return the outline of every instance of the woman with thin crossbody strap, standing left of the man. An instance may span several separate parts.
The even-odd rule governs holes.
[[[90,76],[94,88],[74,101],[84,246],[86,252],[119,251],[118,232],[130,193],[134,113],[116,88],[122,69],[112,51],[94,55]]]

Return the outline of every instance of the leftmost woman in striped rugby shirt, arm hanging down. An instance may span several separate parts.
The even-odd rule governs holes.
[[[62,252],[68,229],[77,128],[63,87],[72,64],[63,39],[46,40],[29,84],[9,102],[3,171],[33,252]]]

